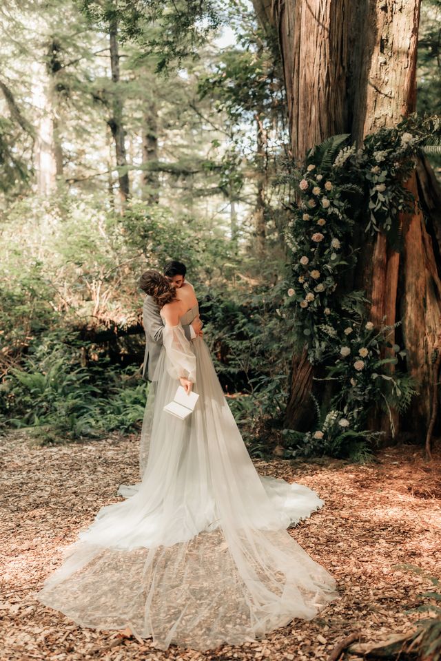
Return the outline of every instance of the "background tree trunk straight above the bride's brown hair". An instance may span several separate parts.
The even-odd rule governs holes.
[[[143,200],[150,204],[159,202],[158,165],[158,111],[154,101],[145,102],[143,133]]]

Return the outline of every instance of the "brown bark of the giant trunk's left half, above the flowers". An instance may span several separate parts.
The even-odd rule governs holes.
[[[278,32],[295,158],[327,136],[345,132],[351,66],[346,17],[353,0],[256,2]]]

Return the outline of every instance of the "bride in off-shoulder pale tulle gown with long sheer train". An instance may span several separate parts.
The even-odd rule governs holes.
[[[129,628],[199,650],[309,620],[336,598],[328,572],[286,528],[323,504],[307,487],[260,476],[202,337],[192,285],[143,275],[161,307],[163,348],[141,431],[141,483],[101,507],[37,599],[83,627]],[[163,410],[181,383],[199,395],[185,420]]]

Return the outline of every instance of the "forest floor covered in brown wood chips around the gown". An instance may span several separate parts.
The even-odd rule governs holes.
[[[258,460],[260,473],[308,485],[325,500],[320,512],[289,532],[336,577],[338,600],[311,622],[294,620],[265,640],[205,653],[158,651],[150,640],[81,629],[34,594],[78,530],[101,505],[119,500],[117,485],[137,481],[138,439],[38,447],[14,434],[0,446],[8,476],[0,511],[1,661],[326,660],[353,632],[373,640],[411,629],[423,616],[414,609],[431,603],[423,596],[433,589],[429,577],[441,578],[439,459],[426,463],[420,448],[404,445],[382,450],[368,465]]]

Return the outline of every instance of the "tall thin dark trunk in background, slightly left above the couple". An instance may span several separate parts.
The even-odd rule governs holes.
[[[119,90],[119,52],[118,52],[118,19],[112,18],[109,25],[110,67],[112,69],[112,117],[107,121],[112,131],[115,143],[116,167],[118,168],[119,197],[121,207],[125,206],[130,194],[129,174],[127,172],[127,157],[125,154],[125,131],[123,125],[123,101]]]

